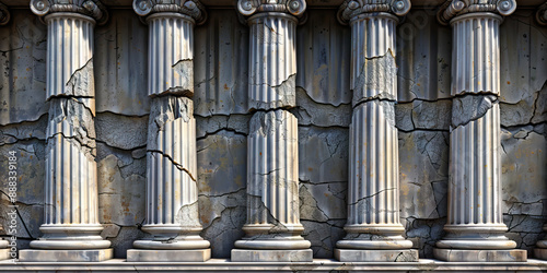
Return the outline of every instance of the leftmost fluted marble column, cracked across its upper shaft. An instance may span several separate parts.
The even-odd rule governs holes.
[[[82,2],[82,1],[81,1]],[[112,258],[101,237],[95,162],[93,29],[107,19],[98,1],[33,0],[47,23],[47,127],[43,236],[20,251],[21,261],[102,261]],[[61,50],[62,49],[62,50]]]

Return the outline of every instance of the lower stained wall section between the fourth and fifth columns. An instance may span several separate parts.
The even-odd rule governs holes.
[[[400,217],[420,258],[432,257],[446,222],[449,150],[447,131],[399,131]]]

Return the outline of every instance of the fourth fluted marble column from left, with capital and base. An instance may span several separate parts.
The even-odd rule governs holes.
[[[395,127],[397,15],[410,1],[345,1],[338,19],[351,26],[353,115],[350,124],[347,236],[335,257],[352,262],[418,261],[399,219],[398,140]]]

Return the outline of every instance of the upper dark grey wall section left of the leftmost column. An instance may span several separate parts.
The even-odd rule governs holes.
[[[0,124],[34,121],[47,112],[47,27],[30,10],[15,10],[0,26]]]

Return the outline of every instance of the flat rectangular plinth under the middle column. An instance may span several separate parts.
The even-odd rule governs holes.
[[[232,262],[312,262],[311,249],[232,249]]]

